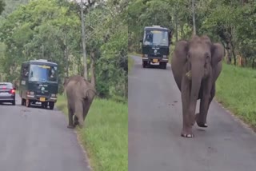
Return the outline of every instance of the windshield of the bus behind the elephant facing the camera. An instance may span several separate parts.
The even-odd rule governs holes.
[[[161,30],[146,30],[144,33],[144,45],[169,46],[168,32]]]

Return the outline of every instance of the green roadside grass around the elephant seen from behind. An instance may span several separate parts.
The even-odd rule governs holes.
[[[58,109],[67,117],[66,97],[59,96]],[[78,137],[94,171],[128,170],[128,105],[95,98]]]

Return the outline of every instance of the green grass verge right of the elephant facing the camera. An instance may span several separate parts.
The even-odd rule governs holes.
[[[223,63],[216,99],[256,130],[256,70]]]

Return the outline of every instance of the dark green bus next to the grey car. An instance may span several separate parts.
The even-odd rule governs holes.
[[[22,105],[41,103],[42,108],[54,109],[58,94],[58,64],[44,59],[22,63],[19,96]]]

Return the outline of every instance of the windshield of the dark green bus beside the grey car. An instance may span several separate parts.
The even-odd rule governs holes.
[[[57,66],[30,65],[30,82],[57,82]]]

